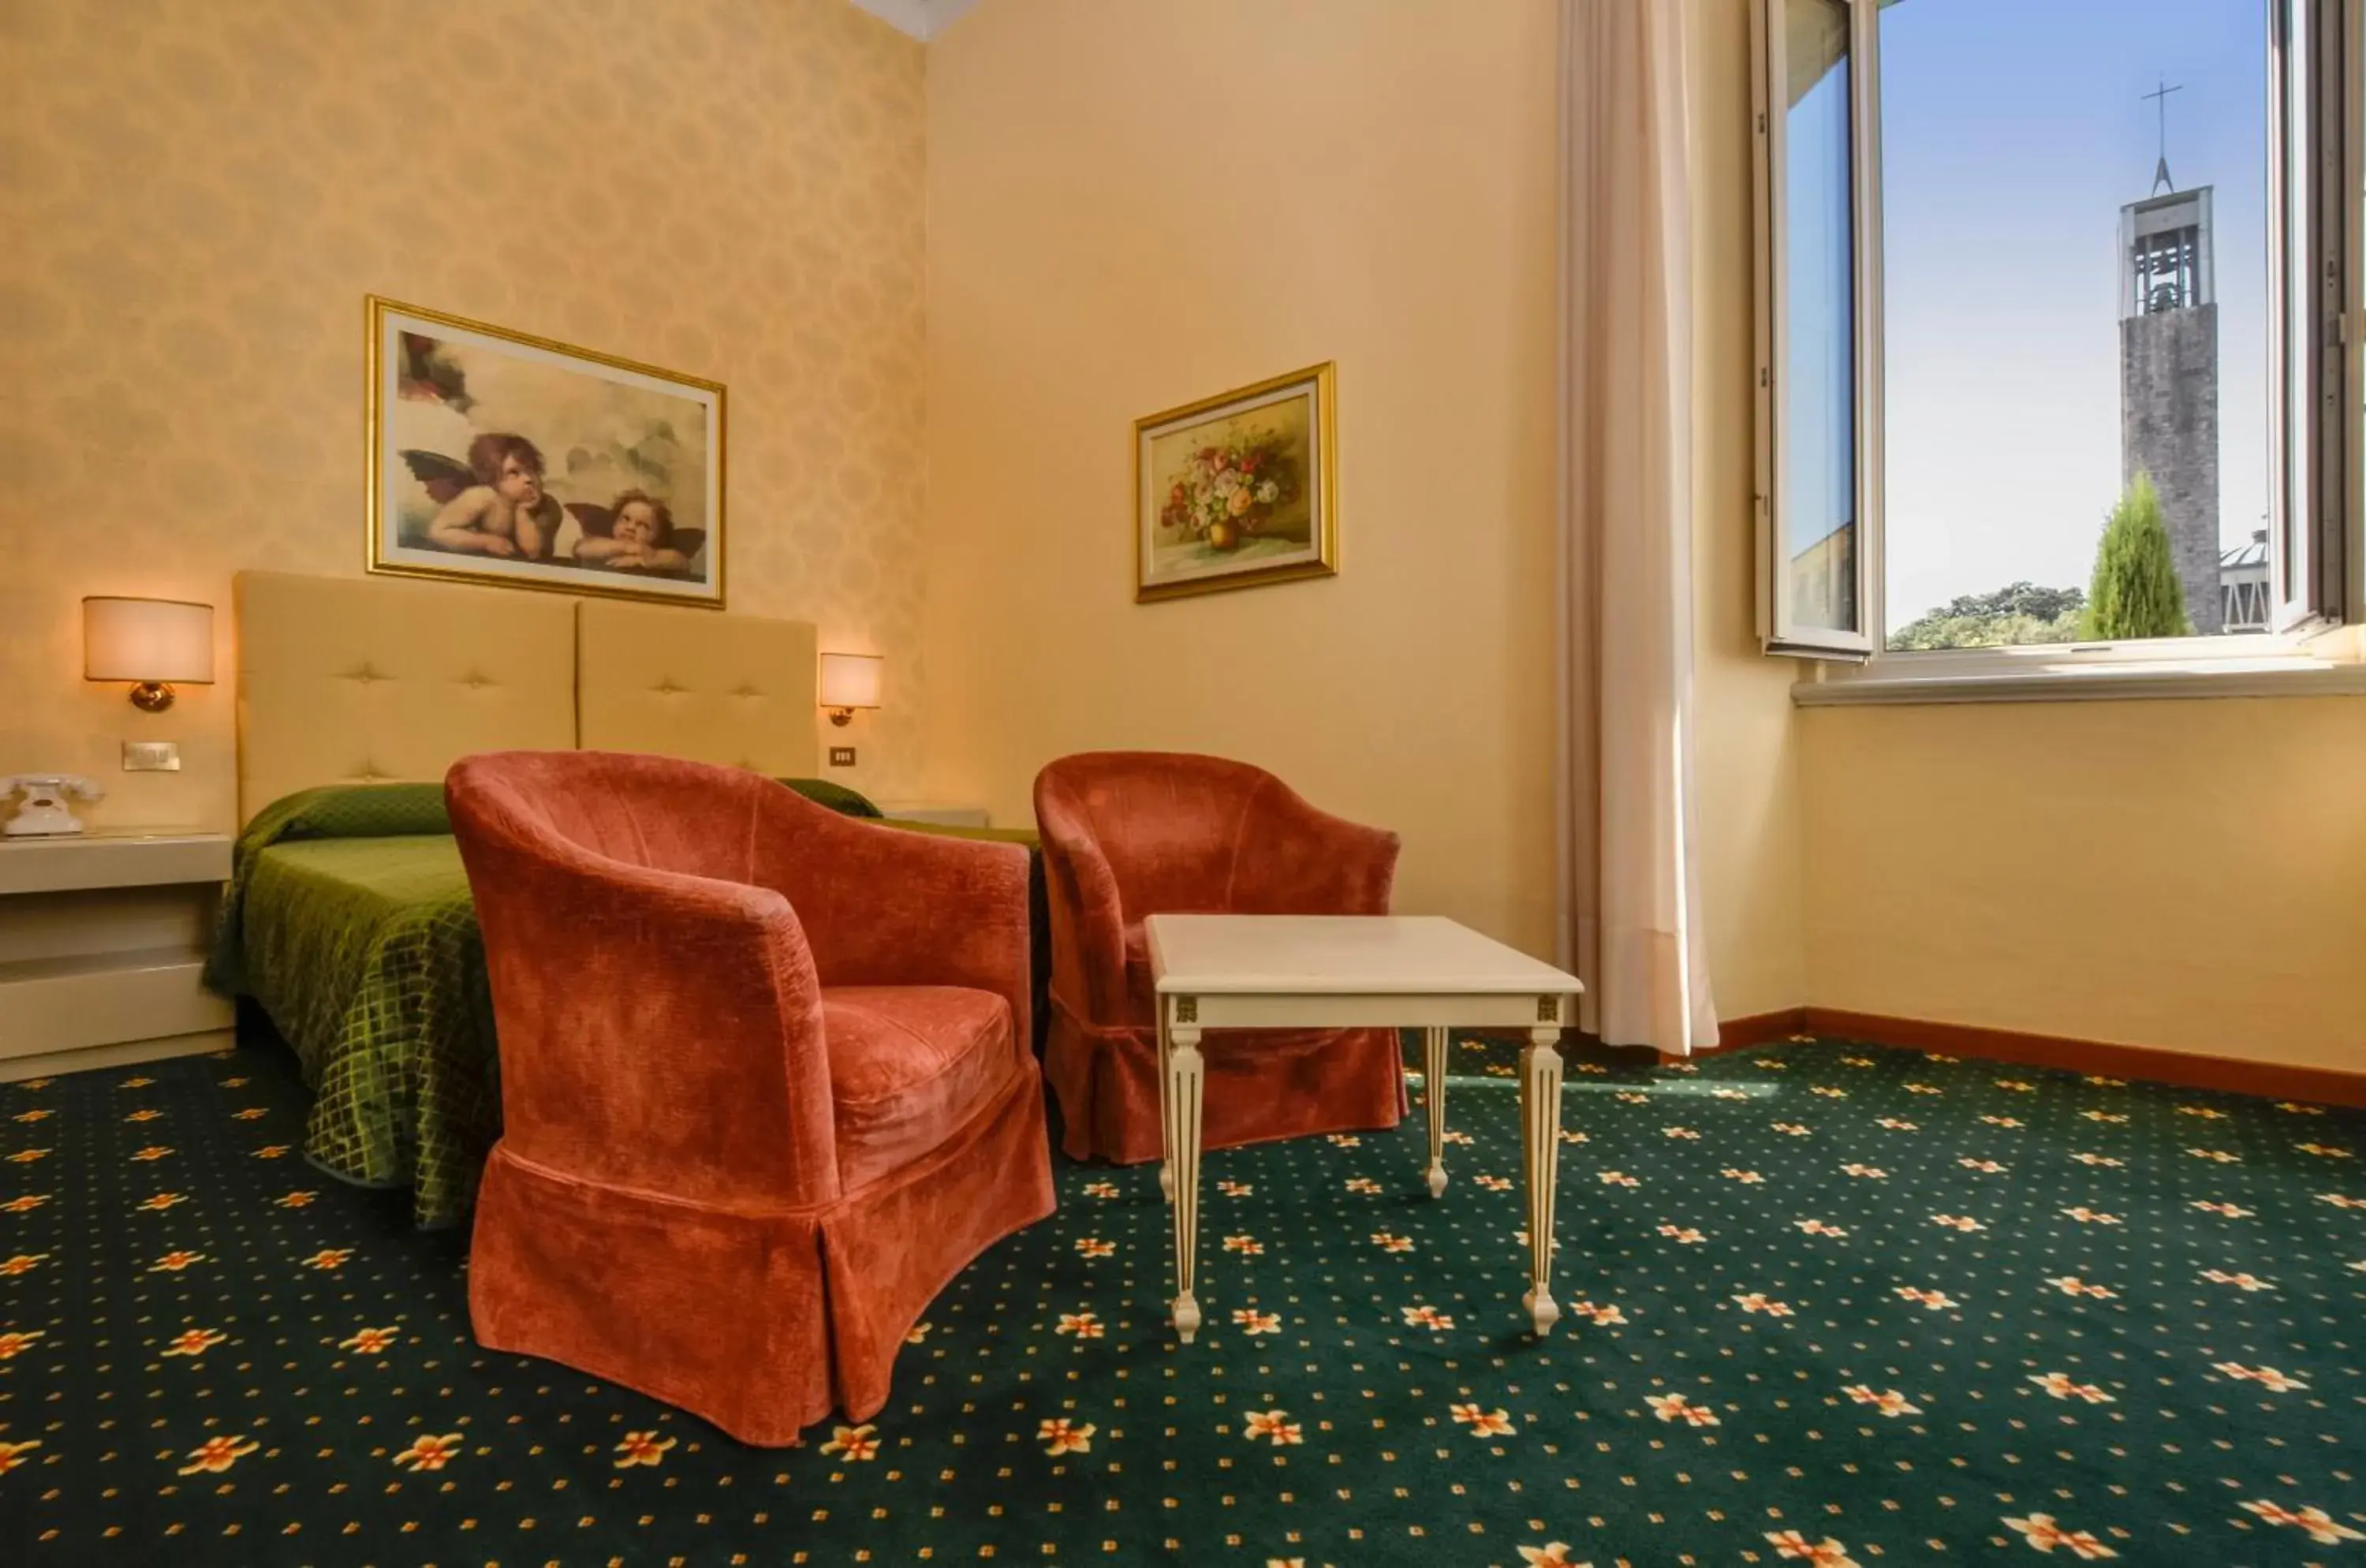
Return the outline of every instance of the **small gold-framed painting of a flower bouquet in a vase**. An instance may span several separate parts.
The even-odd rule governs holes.
[[[1332,367],[1133,423],[1133,598],[1339,570]]]

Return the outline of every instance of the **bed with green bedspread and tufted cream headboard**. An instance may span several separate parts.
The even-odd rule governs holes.
[[[502,1107],[483,946],[442,804],[452,762],[662,752],[878,816],[809,776],[809,624],[279,572],[239,575],[237,615],[244,828],[206,977],[296,1052],[315,1095],[305,1156],[341,1180],[409,1187],[424,1227],[468,1211]],[[1039,955],[1041,920],[1039,892]]]

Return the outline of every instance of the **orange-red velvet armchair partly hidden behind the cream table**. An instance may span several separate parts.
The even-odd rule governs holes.
[[[1386,915],[1396,835],[1306,804],[1223,757],[1086,752],[1036,776],[1051,894],[1043,1071],[1077,1159],[1159,1156],[1145,915]],[[1396,1126],[1389,1029],[1209,1031],[1202,1145]]]

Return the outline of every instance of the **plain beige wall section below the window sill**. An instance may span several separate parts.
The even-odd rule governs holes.
[[[1822,1007],[2366,1069],[2366,702],[1805,714]]]

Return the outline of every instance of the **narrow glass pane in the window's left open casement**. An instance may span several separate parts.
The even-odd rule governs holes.
[[[1782,530],[1791,624],[1855,631],[1857,435],[1848,7],[1784,0]]]

